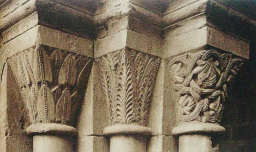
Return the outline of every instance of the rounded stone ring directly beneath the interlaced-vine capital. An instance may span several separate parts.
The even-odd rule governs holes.
[[[172,129],[173,136],[180,136],[184,134],[198,134],[198,133],[224,133],[226,129],[220,125],[210,123],[190,123],[178,125]]]

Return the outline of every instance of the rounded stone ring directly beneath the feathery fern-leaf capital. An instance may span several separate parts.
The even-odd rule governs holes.
[[[103,130],[104,136],[112,135],[151,135],[151,129],[140,125],[111,125]]]

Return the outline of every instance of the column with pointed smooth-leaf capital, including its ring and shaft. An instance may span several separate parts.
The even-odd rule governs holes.
[[[84,99],[92,58],[39,46],[18,52],[7,66],[29,112],[34,152],[73,151],[73,127]],[[9,73],[10,74],[10,73]]]

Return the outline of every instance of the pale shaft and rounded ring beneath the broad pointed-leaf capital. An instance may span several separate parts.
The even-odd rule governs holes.
[[[62,124],[33,124],[26,132],[33,135],[34,152],[72,152],[77,130]]]

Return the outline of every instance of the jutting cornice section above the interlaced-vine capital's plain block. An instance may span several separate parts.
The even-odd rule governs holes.
[[[238,1],[237,1],[238,3]],[[247,6],[248,8],[252,6]],[[255,17],[230,6],[229,2],[217,0],[172,1],[163,13],[162,28],[175,26],[176,23],[205,14],[206,25],[224,32],[230,32],[249,41],[254,40],[256,31]],[[252,14],[253,15],[253,14]]]

